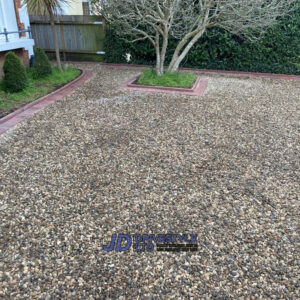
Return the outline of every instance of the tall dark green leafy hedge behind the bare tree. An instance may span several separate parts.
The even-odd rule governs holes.
[[[177,41],[170,40],[167,62]],[[105,61],[132,64],[155,64],[155,51],[147,41],[127,43],[110,26],[106,34]],[[166,62],[166,63],[167,63]],[[258,42],[251,43],[224,30],[212,28],[191,49],[184,67],[300,74],[300,4],[296,11],[283,17]]]

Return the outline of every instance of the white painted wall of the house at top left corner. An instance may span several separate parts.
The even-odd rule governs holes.
[[[19,9],[21,23],[24,23],[25,29],[29,26],[29,17],[26,6]],[[0,32],[17,31],[15,6],[13,0],[0,0]],[[29,56],[33,55],[34,40],[29,38],[28,33],[25,37],[19,37],[18,33],[8,35],[9,42],[6,42],[5,35],[0,35],[0,51],[8,51],[18,48],[28,50]]]

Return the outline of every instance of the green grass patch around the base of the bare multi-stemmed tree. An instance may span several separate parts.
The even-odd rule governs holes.
[[[191,88],[196,79],[197,77],[193,73],[165,72],[164,75],[157,76],[155,70],[145,70],[137,83],[142,85]]]

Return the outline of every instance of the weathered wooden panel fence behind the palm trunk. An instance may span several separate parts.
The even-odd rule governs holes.
[[[54,53],[49,19],[30,16],[35,45]],[[59,16],[55,22],[59,48],[64,58],[101,60],[104,54],[105,21],[99,16]]]

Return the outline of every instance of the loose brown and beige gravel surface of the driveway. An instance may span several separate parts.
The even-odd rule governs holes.
[[[0,136],[0,298],[299,299],[300,82],[214,75],[189,97],[80,67],[90,82]],[[113,233],[199,249],[105,252]]]

